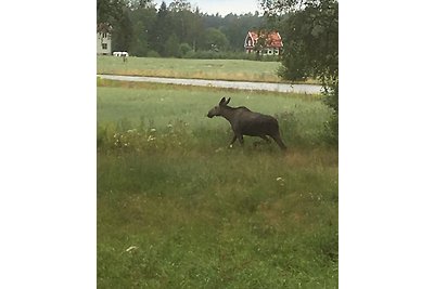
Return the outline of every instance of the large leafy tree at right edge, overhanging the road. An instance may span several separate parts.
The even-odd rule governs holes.
[[[327,123],[331,141],[339,135],[339,3],[335,0],[261,0],[270,17],[289,13],[282,22],[285,53],[279,75],[289,80],[315,77],[333,109]]]

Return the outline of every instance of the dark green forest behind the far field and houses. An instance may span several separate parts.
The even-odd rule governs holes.
[[[244,53],[248,30],[273,29],[259,12],[207,14],[188,0],[98,0],[97,23],[107,24],[112,50],[133,56],[255,58]],[[100,26],[99,26],[100,27]]]

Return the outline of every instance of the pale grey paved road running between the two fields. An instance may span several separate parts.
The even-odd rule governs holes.
[[[321,92],[321,87],[315,84],[283,84],[283,83],[268,83],[268,82],[203,80],[203,79],[162,78],[162,77],[144,77],[144,76],[114,76],[114,75],[97,75],[97,76],[112,80],[146,81],[146,82],[229,88],[229,89],[241,89],[241,90],[267,90],[277,92],[296,92],[296,93],[307,93],[307,94],[318,94]]]

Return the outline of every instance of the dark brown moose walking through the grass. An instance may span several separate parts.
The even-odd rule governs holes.
[[[243,135],[259,136],[267,143],[271,143],[267,137],[267,135],[269,135],[282,150],[286,149],[286,146],[280,136],[279,123],[276,118],[254,113],[245,106],[230,107],[228,106],[230,100],[230,97],[228,100],[222,97],[220,103],[212,108],[206,115],[208,118],[216,116],[224,117],[230,122],[234,135],[229,146],[231,146],[237,139],[240,141],[240,144],[243,145]]]

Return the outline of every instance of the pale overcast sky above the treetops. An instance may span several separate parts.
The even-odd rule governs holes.
[[[165,0],[166,4],[169,5],[171,0]],[[244,14],[255,13],[258,11],[261,14],[258,0],[189,0],[193,8],[199,6],[199,10],[203,13],[216,14],[217,12],[225,16],[229,13]],[[158,9],[162,0],[154,1]]]

